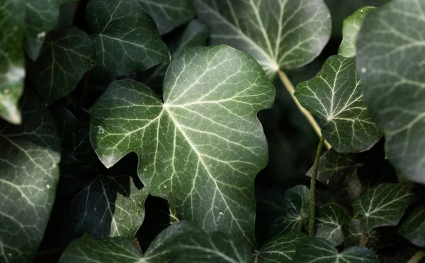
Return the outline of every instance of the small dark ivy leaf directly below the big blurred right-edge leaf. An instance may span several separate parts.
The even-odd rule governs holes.
[[[412,184],[380,184],[353,202],[353,208],[364,217],[361,228],[366,232],[384,225],[397,225],[407,206],[415,199]]]

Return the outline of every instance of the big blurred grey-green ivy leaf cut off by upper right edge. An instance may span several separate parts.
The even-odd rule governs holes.
[[[371,11],[358,34],[357,68],[387,157],[408,179],[425,184],[424,0],[395,0]],[[402,23],[399,23],[402,21]]]

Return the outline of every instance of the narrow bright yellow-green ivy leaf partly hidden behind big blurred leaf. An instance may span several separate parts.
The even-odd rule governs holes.
[[[361,28],[361,24],[363,23],[366,14],[373,9],[375,9],[375,7],[365,6],[344,19],[344,26],[342,27],[342,42],[341,45],[339,45],[338,55],[342,57],[356,56],[356,40],[358,31]]]

